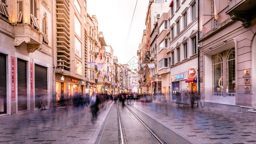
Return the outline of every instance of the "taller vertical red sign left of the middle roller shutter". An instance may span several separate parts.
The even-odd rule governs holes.
[[[16,100],[16,63],[15,57],[11,56],[11,101]]]

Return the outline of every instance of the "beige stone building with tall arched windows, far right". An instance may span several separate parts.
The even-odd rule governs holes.
[[[206,105],[256,108],[256,1],[199,2],[200,91]]]

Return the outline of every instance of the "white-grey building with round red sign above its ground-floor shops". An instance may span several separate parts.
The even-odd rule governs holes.
[[[170,36],[169,63],[171,100],[177,93],[198,91],[197,0],[173,0],[170,3],[168,19]]]

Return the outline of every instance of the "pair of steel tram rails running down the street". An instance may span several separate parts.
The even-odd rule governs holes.
[[[146,129],[147,132],[149,132],[151,134],[151,136],[156,140],[156,142],[158,142],[159,144],[167,144],[161,138],[159,138],[158,135],[154,131],[152,131],[146,125],[146,123],[143,120],[141,120],[128,106],[125,106],[125,108],[127,108],[132,113],[132,115],[135,117],[135,119],[138,120],[141,123],[141,125]],[[122,124],[122,116],[121,116],[118,105],[117,105],[117,112],[118,112],[118,121],[119,121],[119,129],[120,129],[119,134],[120,134],[120,139],[121,139],[120,144],[128,144],[127,140],[126,140],[125,132],[124,132],[125,129],[124,129],[124,126]]]

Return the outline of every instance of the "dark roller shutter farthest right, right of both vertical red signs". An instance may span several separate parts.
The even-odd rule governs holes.
[[[47,68],[35,64],[35,106],[39,108],[40,100],[47,105]]]

